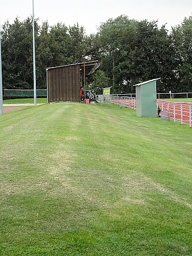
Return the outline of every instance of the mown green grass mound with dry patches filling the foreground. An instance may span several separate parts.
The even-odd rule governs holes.
[[[117,105],[0,116],[0,255],[191,255],[188,125]]]

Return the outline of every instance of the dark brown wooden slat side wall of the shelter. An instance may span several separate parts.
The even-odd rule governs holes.
[[[80,101],[80,65],[48,69],[48,101]]]

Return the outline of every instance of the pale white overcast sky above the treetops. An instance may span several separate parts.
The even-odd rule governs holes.
[[[16,16],[20,21],[32,15],[32,0],[0,0],[1,24],[12,24]],[[157,20],[166,28],[182,23],[192,15],[192,0],[34,0],[34,15],[49,25],[58,22],[66,26],[78,23],[87,34],[96,33],[100,23],[119,15],[130,19]]]

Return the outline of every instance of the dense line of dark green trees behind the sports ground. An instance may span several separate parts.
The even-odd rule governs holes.
[[[2,26],[4,89],[33,88],[32,18]],[[38,25],[35,20],[36,84],[46,88],[46,68],[83,61],[83,55],[102,62],[87,83],[97,91],[106,85],[113,93],[133,93],[133,85],[161,77],[158,92],[192,91],[192,16],[168,33],[157,22],[119,16],[87,35],[78,24]]]

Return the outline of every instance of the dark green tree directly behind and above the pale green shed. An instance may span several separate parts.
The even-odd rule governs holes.
[[[135,59],[137,60],[139,80],[161,77],[157,89],[164,90],[170,80],[174,78],[175,67],[175,51],[165,26],[159,29],[155,21],[142,20],[139,22],[136,48]]]

